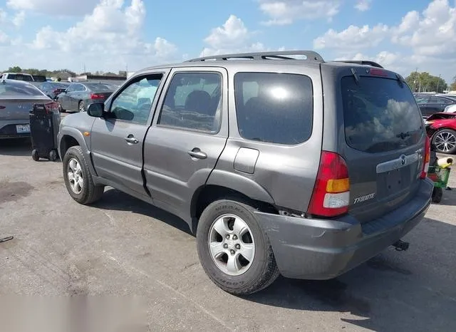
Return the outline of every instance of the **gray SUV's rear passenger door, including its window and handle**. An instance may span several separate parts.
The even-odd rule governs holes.
[[[144,172],[154,203],[179,214],[207,181],[227,141],[227,72],[177,68],[170,76],[145,138]]]

